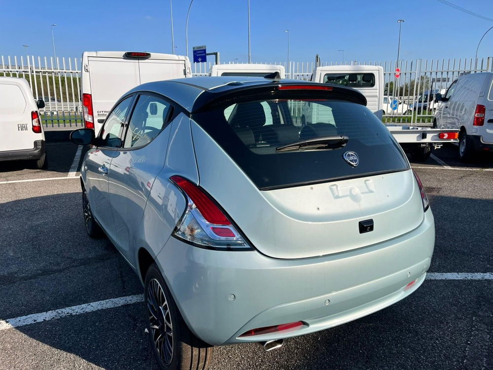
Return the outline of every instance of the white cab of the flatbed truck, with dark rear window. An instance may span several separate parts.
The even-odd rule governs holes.
[[[383,109],[384,69],[381,66],[319,66],[312,74],[312,81],[352,87],[365,96],[370,111]],[[377,114],[379,118],[381,115]]]

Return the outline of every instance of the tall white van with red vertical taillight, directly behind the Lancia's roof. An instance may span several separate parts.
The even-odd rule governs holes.
[[[116,101],[152,81],[191,77],[188,57],[132,51],[82,53],[81,92],[85,127],[99,132]]]

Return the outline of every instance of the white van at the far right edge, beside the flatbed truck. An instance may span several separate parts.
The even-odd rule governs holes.
[[[459,130],[459,158],[470,160],[477,151],[493,151],[493,73],[460,76],[450,85],[434,118],[438,128]]]

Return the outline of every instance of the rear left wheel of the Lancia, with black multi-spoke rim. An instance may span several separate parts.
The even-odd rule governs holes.
[[[155,263],[145,274],[144,302],[149,340],[160,369],[208,369],[213,347],[190,332]]]

